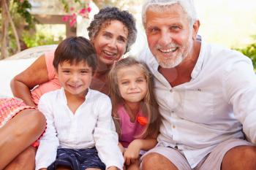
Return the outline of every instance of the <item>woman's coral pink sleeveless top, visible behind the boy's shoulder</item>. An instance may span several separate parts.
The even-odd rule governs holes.
[[[34,88],[34,90],[31,91],[31,96],[35,104],[38,104],[39,98],[44,93],[61,88],[59,79],[53,67],[53,58],[54,58],[54,51],[50,53],[45,53],[45,62],[47,66],[49,81],[42,83],[41,85],[38,85],[36,88]]]

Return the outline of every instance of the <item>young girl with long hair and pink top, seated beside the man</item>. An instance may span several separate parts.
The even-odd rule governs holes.
[[[140,153],[157,144],[160,115],[153,77],[135,58],[118,61],[109,74],[113,120],[127,169],[139,169]]]

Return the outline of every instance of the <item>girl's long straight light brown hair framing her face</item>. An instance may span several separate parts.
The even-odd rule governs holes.
[[[118,106],[120,104],[124,104],[124,99],[121,97],[118,88],[117,73],[119,69],[123,69],[125,67],[130,67],[134,65],[139,66],[140,69],[143,71],[143,74],[146,77],[148,88],[146,96],[143,99],[142,104],[140,105],[143,111],[143,116],[147,117],[146,130],[143,131],[143,134],[141,134],[140,136],[143,138],[147,136],[157,136],[161,119],[158,109],[159,106],[157,104],[153,91],[153,76],[151,72],[148,71],[148,67],[146,66],[145,63],[139,62],[132,57],[127,57],[118,61],[108,74],[108,82],[110,85],[110,98],[112,101],[112,117],[116,125],[116,131],[118,133],[118,136],[121,136],[121,123],[120,118],[118,116]]]

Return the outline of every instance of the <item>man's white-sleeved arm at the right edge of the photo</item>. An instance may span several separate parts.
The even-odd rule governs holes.
[[[256,144],[256,75],[249,58],[233,63],[223,75],[223,93],[243,124],[246,137]]]

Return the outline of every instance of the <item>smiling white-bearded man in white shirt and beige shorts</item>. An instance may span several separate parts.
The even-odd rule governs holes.
[[[142,169],[256,169],[256,77],[249,58],[198,41],[200,22],[189,0],[146,1],[143,26],[149,49],[140,60],[154,74],[163,120]]]

